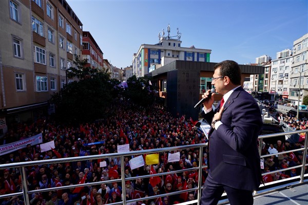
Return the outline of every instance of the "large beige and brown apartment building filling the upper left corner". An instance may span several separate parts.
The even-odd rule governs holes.
[[[81,55],[82,23],[65,0],[0,1],[0,132],[46,114]],[[49,111],[52,111],[50,108]]]

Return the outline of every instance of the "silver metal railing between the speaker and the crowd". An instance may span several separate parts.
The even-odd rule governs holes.
[[[308,141],[308,137],[307,137],[308,134],[307,133],[308,133],[308,130],[261,135],[261,136],[259,136],[259,151],[260,151],[260,155],[261,155],[262,141],[265,138],[285,136],[285,135],[291,136],[292,134],[299,134],[299,133],[305,133],[304,148],[291,150],[291,151],[279,152],[279,154],[290,153],[290,152],[293,152],[293,151],[302,151],[303,152],[303,161],[302,161],[301,165],[298,165],[296,167],[291,167],[291,168],[280,169],[280,170],[276,170],[276,171],[272,171],[272,172],[263,173],[262,175],[273,174],[273,173],[276,173],[276,172],[291,170],[291,169],[295,169],[295,168],[301,168],[300,177],[292,177],[292,178],[295,179],[295,180],[298,180],[298,178],[299,178],[298,183],[303,183],[304,177],[306,176],[306,175],[304,175],[305,166],[308,166],[308,164],[305,163],[306,155],[307,155],[307,141]],[[167,194],[148,196],[148,197],[143,197],[143,198],[138,198],[138,199],[131,199],[131,200],[126,200],[126,197],[123,197],[121,202],[115,202],[115,203],[110,203],[110,204],[126,204],[128,202],[135,202],[135,201],[137,202],[137,201],[146,200],[146,199],[155,199],[155,198],[158,198],[158,197],[165,197],[165,196],[170,196],[170,195],[175,195],[175,194],[181,194],[181,193],[185,193],[185,192],[189,192],[189,191],[198,191],[197,192],[198,193],[197,199],[189,201],[189,202],[188,201],[183,202],[181,204],[185,205],[185,204],[197,203],[199,205],[200,201],[201,201],[201,192],[202,192],[202,188],[203,188],[203,186],[202,186],[202,169],[207,168],[207,166],[202,165],[202,153],[203,153],[204,147],[207,147],[207,144],[203,143],[203,144],[196,144],[196,145],[170,147],[170,148],[160,148],[160,149],[151,149],[151,150],[142,150],[142,151],[131,151],[131,152],[124,152],[124,153],[112,153],[112,154],[104,154],[103,156],[102,155],[90,155],[90,156],[79,156],[79,157],[70,157],[70,158],[59,158],[59,159],[47,159],[47,160],[29,161],[29,162],[8,163],[8,164],[0,165],[0,170],[17,168],[17,167],[20,168],[22,186],[23,186],[22,192],[0,195],[0,198],[23,195],[25,204],[30,204],[29,195],[33,194],[33,193],[55,191],[55,190],[62,190],[62,189],[69,189],[69,188],[76,188],[76,187],[95,186],[95,185],[101,185],[102,183],[112,183],[112,182],[121,182],[122,194],[123,194],[123,196],[126,196],[125,182],[127,180],[134,180],[134,179],[138,179],[138,178],[149,178],[149,177],[153,177],[153,176],[163,176],[163,175],[169,175],[169,174],[182,173],[182,172],[185,172],[185,171],[198,170],[198,183],[197,183],[196,188],[182,190],[182,191],[175,191],[175,192],[167,193]],[[168,153],[170,151],[180,151],[180,150],[187,150],[187,149],[199,149],[199,166],[198,167],[192,167],[192,168],[177,170],[177,171],[170,171],[170,172],[164,172],[164,173],[157,173],[157,174],[150,174],[150,175],[144,175],[144,176],[125,178],[125,175],[124,175],[124,167],[125,167],[124,166],[124,158],[126,156],[141,155],[141,154],[152,154],[152,153],[160,153],[160,152],[167,152]],[[272,156],[272,155],[277,155],[277,153],[262,155],[261,158],[266,158],[266,157],[269,157],[269,156]],[[26,175],[26,167],[28,167],[28,166],[46,165],[46,164],[51,164],[51,163],[64,163],[64,162],[73,162],[73,161],[84,161],[84,160],[101,159],[101,158],[109,158],[109,157],[120,157],[121,168],[122,168],[120,179],[90,182],[90,183],[86,183],[86,184],[69,185],[69,186],[54,187],[54,188],[39,189],[39,190],[29,190],[28,189],[27,175]],[[283,180],[285,180],[285,179],[283,179]],[[276,182],[278,183],[278,182],[281,182],[283,180],[271,182],[271,185],[273,183],[276,183]],[[266,184],[261,185],[260,188],[266,187],[266,186],[267,186]],[[260,195],[260,194],[262,194],[262,190],[258,191],[258,192],[257,191],[254,192],[255,196]]]

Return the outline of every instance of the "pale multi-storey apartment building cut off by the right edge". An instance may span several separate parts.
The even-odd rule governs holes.
[[[308,33],[293,43],[291,63],[291,84],[289,99],[294,105],[301,105],[303,96],[308,95]]]

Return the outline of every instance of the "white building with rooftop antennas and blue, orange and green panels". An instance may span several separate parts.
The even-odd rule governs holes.
[[[209,62],[211,50],[197,49],[195,46],[182,47],[179,30],[176,36],[170,36],[170,26],[168,26],[167,32],[167,36],[165,36],[164,31],[159,33],[159,43],[154,45],[143,44],[138,52],[133,54],[132,69],[134,75],[143,77],[147,73],[176,60]]]

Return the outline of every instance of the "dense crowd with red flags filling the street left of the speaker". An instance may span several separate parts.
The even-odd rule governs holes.
[[[27,145],[6,155],[0,156],[1,163],[35,161],[101,154],[98,160],[50,163],[26,167],[29,190],[76,185],[79,183],[99,182],[98,186],[87,186],[30,194],[30,203],[48,205],[87,205],[107,204],[122,201],[120,182],[104,182],[121,177],[119,157],[105,158],[104,154],[116,153],[118,145],[129,143],[131,151],[164,147],[183,146],[205,142],[205,135],[194,127],[194,121],[185,120],[185,116],[172,116],[163,106],[155,105],[151,109],[133,108],[128,104],[117,104],[110,108],[112,115],[102,120],[79,126],[57,125],[48,117],[42,117],[31,125],[15,124],[1,139],[0,144],[25,139],[38,133],[43,135],[43,143],[54,141],[55,148],[41,152],[40,145]],[[91,144],[88,146],[87,144]],[[199,160],[207,165],[207,149],[199,158],[199,149],[181,150],[179,162],[168,162],[167,153],[160,153],[159,163],[131,169],[125,157],[125,178],[149,175],[151,169],[157,173],[197,167]],[[101,167],[100,162],[106,166]],[[21,192],[23,190],[21,170],[18,167],[0,170],[0,194]],[[202,171],[202,182],[207,176],[207,169]],[[197,186],[198,170],[160,176],[157,183],[150,178],[139,178],[125,183],[126,200],[146,196],[155,196]],[[130,204],[176,204],[194,200],[197,191],[140,200]],[[1,205],[24,204],[22,195],[0,199]],[[129,204],[129,203],[127,203]]]

